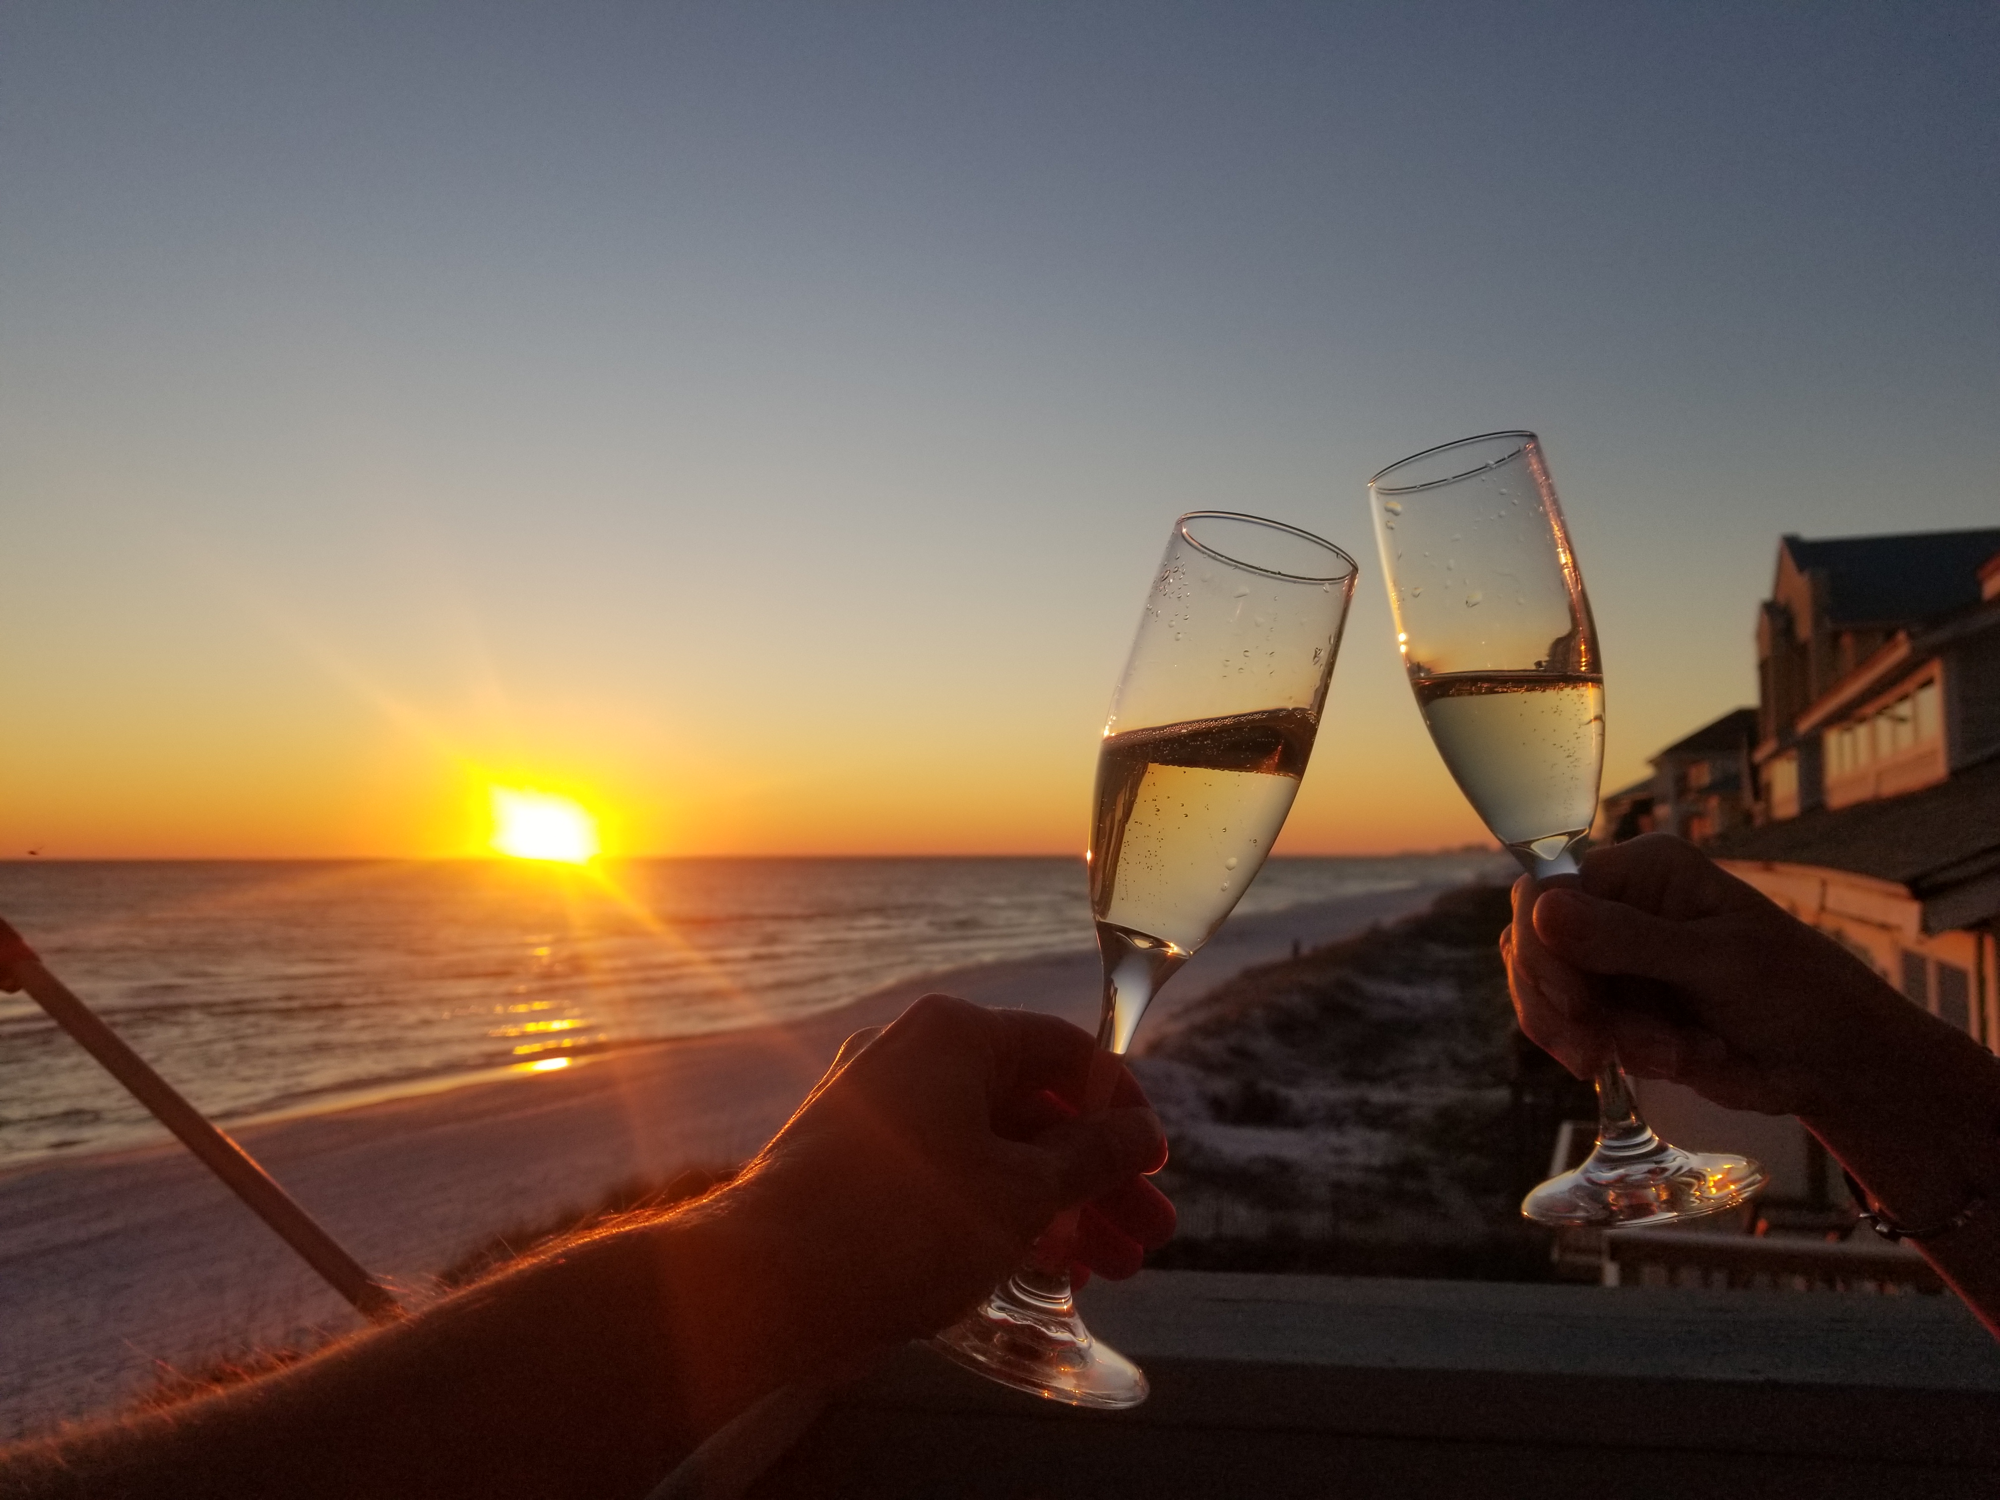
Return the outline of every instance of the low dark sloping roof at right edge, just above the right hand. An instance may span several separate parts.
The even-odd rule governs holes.
[[[1850,870],[1894,880],[1928,902],[2000,872],[2000,756],[1922,792],[1744,828],[1708,852],[1718,860]]]

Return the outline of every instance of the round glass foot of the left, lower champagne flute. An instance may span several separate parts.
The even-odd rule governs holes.
[[[1024,1270],[930,1340],[932,1348],[1032,1396],[1124,1410],[1146,1400],[1146,1372],[1090,1336],[1068,1276]]]

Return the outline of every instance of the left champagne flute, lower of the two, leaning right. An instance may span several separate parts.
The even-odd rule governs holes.
[[[1214,936],[1270,854],[1306,772],[1354,596],[1354,558],[1258,516],[1174,522],[1098,750],[1090,910],[1104,962],[1098,1046],[1124,1052],[1160,986]],[[1100,1054],[1102,1056],[1102,1054]],[[1096,1066],[1084,1110],[1110,1104]],[[1072,1406],[1146,1400],[1146,1374],[1094,1340],[1070,1294],[1064,1214],[936,1346]]]

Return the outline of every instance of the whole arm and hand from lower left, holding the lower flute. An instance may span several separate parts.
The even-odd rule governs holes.
[[[1160,1122],[1052,1016],[926,996],[726,1188],[560,1242],[402,1324],[0,1458],[0,1496],[642,1496],[768,1392],[974,1306],[1060,1210],[1130,1274],[1172,1232]]]

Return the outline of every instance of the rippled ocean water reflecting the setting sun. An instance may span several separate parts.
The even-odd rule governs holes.
[[[1238,912],[1494,868],[1474,852],[1278,858]],[[570,1066],[1092,944],[1072,858],[14,860],[0,916],[220,1122]],[[0,1168],[162,1136],[32,1000],[0,994]]]

